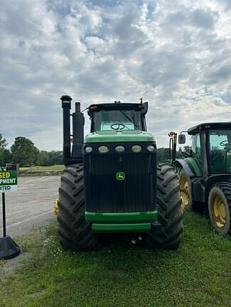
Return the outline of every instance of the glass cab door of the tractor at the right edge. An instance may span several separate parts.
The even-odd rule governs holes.
[[[231,173],[230,131],[211,129],[210,173]]]

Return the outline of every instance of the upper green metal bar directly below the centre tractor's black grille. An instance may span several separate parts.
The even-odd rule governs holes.
[[[139,222],[157,220],[157,211],[147,212],[85,212],[89,222]]]

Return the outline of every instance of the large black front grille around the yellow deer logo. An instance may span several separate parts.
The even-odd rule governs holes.
[[[124,181],[117,181],[124,172]],[[152,211],[156,204],[156,154],[85,156],[87,212]]]

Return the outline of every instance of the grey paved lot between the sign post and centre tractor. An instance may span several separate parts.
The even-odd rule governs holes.
[[[58,198],[60,176],[18,177],[17,192],[5,193],[6,235],[25,235],[33,227],[48,224],[55,218],[53,202]],[[0,193],[0,237],[2,236],[2,203]]]

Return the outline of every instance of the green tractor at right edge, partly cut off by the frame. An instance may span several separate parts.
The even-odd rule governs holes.
[[[171,133],[182,209],[208,211],[215,230],[231,234],[231,122],[198,124],[183,132],[192,140],[183,159],[176,159],[176,133]],[[185,142],[181,132],[178,143]]]

